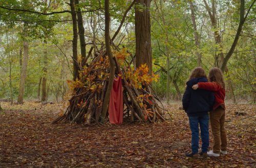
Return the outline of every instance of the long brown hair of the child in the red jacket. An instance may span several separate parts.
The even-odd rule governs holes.
[[[222,88],[225,88],[225,82],[223,78],[223,73],[220,68],[211,68],[209,75],[208,75],[209,81],[216,81],[221,85]]]

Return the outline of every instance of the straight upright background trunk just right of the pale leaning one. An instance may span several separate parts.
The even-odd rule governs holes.
[[[41,97],[41,101],[44,102],[44,101],[47,101],[47,42],[44,41],[44,68],[42,69],[42,73],[43,73],[43,76],[42,76],[42,97]]]

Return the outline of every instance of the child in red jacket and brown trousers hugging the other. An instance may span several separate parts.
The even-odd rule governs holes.
[[[223,73],[219,68],[212,68],[209,72],[209,82],[199,82],[192,88],[214,91],[215,104],[210,111],[210,125],[214,135],[213,150],[207,152],[208,156],[227,154],[227,134],[225,128],[225,83]]]

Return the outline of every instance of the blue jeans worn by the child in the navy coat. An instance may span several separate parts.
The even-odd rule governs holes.
[[[193,153],[198,153],[199,148],[199,128],[201,130],[202,149],[201,151],[206,153],[209,147],[209,115],[203,116],[188,116],[189,126],[192,134],[191,150]]]

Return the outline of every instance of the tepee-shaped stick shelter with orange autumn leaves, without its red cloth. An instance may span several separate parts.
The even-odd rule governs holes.
[[[70,81],[72,96],[65,113],[61,114],[53,123],[70,122],[90,125],[101,123],[102,104],[109,82],[110,63],[105,51],[99,52],[91,61],[90,65],[79,65],[79,77]],[[124,113],[131,121],[156,122],[165,121],[165,109],[156,96],[151,85],[143,83],[142,87],[136,88],[135,83],[127,76],[126,71],[132,71],[131,65],[124,60],[125,64],[119,65],[116,58],[116,72],[122,77]],[[131,61],[132,62],[132,61]]]

